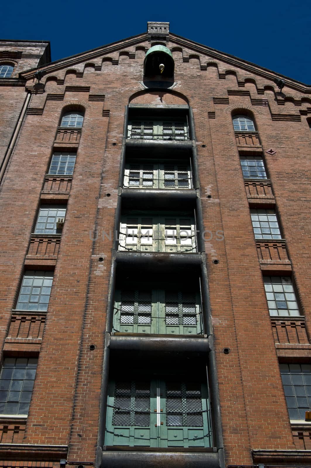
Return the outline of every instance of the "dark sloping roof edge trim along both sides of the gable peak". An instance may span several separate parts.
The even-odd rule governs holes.
[[[197,42],[191,41],[189,39],[186,39],[185,37],[178,36],[171,32],[169,33],[169,37],[170,43],[174,43],[176,44],[176,46],[186,47],[187,49],[193,50],[193,52],[197,52],[202,55],[207,55],[211,59],[220,60],[224,63],[227,63],[228,65],[241,68],[242,70],[246,70],[255,75],[267,78],[268,80],[282,78],[283,80],[285,80],[286,86],[289,86],[290,88],[296,89],[306,94],[311,94],[311,85],[306,85],[300,81],[294,80],[280,73],[276,73],[265,67],[256,65],[252,62],[248,62],[247,60],[239,59],[234,55],[217,51],[216,49],[212,49],[211,47],[199,44]],[[81,52],[70,57],[66,57],[64,59],[56,60],[55,62],[51,62],[50,64],[47,64],[45,66],[41,66],[40,70],[44,70],[45,73],[52,73],[63,68],[72,67],[81,62],[96,59],[97,57],[100,57],[102,55],[111,54],[112,52],[121,51],[130,46],[139,45],[148,41],[148,38],[148,32],[137,34],[136,36],[127,37],[126,39],[112,42],[111,44],[96,47],[95,49],[91,49],[89,51]],[[153,40],[152,42],[154,43],[156,41]],[[160,39],[159,42],[161,42]],[[30,70],[20,73],[20,76],[28,80],[31,79],[34,73],[36,73],[37,71],[37,68],[32,68]]]

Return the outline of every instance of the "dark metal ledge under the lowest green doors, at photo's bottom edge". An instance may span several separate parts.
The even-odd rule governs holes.
[[[106,450],[102,454],[101,468],[166,468],[168,466],[170,468],[218,468],[218,453]]]

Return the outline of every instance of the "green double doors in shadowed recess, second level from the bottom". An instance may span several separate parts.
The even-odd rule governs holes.
[[[200,335],[200,297],[194,291],[173,289],[116,291],[113,331]]]

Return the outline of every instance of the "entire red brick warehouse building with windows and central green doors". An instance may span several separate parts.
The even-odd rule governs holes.
[[[311,465],[310,86],[169,32],[0,41],[0,467]]]

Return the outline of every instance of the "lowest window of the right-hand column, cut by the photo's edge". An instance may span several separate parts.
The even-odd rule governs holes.
[[[305,420],[311,410],[311,364],[280,364],[289,419]]]

